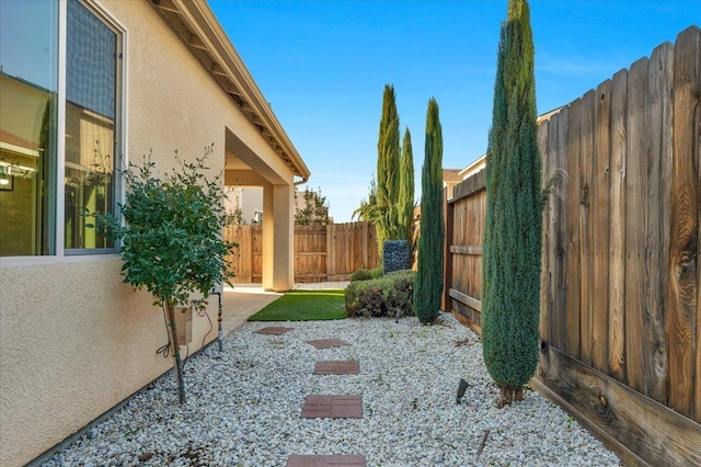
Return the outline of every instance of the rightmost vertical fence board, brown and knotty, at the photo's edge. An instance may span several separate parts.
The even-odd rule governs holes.
[[[687,417],[696,414],[701,390],[694,376],[699,298],[699,29],[682,32],[674,52],[674,158],[671,172],[671,251],[668,308],[669,403]],[[691,104],[690,103],[694,103]],[[693,170],[691,170],[693,168]],[[701,403],[701,402],[698,402]]]

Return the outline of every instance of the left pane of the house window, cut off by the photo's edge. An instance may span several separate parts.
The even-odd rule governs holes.
[[[54,254],[58,2],[0,1],[0,257]]]

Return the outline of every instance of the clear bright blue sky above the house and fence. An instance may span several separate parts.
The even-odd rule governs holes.
[[[376,172],[382,92],[412,133],[417,193],[428,100],[444,168],[486,150],[506,0],[209,0],[312,172],[349,221]],[[567,104],[690,25],[698,0],[531,0],[538,112]],[[304,185],[301,186],[303,190]]]

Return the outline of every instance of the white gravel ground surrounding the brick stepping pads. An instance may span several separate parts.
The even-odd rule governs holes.
[[[222,355],[215,344],[186,362],[186,406],[171,372],[45,465],[284,466],[292,454],[359,454],[368,466],[619,465],[537,392],[497,410],[479,339],[450,315],[441,321],[248,322]],[[295,330],[253,333],[266,326]],[[304,343],[326,338],[350,345]],[[315,376],[322,360],[358,360],[360,374]],[[460,378],[469,388],[456,405]],[[361,395],[363,419],[301,419],[304,396],[321,394]]]

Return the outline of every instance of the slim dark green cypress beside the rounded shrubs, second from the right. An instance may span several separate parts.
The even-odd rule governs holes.
[[[414,284],[414,310],[424,324],[433,323],[440,310],[443,293],[443,130],[438,104],[428,101],[425,159],[421,176],[421,224],[418,271]]]

